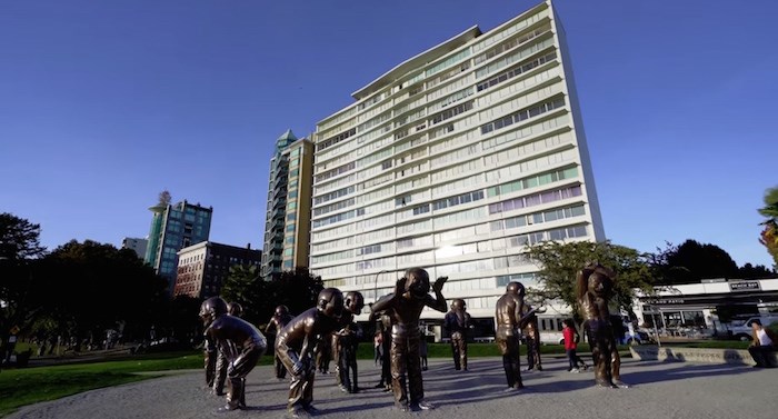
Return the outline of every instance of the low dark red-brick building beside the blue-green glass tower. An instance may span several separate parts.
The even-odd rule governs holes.
[[[178,251],[178,269],[173,297],[210,298],[221,292],[221,286],[235,266],[259,270],[260,250],[202,241]]]

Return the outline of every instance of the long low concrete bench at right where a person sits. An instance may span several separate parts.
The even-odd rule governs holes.
[[[746,349],[657,347],[654,345],[630,346],[632,358],[641,361],[680,361],[704,363],[754,365],[754,358]],[[772,352],[774,365],[778,365]]]

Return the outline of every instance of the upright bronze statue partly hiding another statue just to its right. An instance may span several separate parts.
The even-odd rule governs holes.
[[[525,326],[522,318],[525,310],[525,286],[520,282],[509,282],[506,293],[497,300],[495,319],[497,332],[495,342],[502,355],[502,368],[506,371],[508,389],[520,390],[525,388],[521,382],[521,365],[519,359],[519,335]],[[529,313],[529,311],[527,311]]]

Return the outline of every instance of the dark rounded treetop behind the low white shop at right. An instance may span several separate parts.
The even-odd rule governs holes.
[[[657,279],[662,285],[699,282],[701,279],[739,278],[735,260],[718,246],[686,240],[680,246],[667,243],[652,256]]]

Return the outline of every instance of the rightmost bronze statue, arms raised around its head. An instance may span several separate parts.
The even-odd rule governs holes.
[[[584,331],[595,362],[595,382],[600,387],[628,387],[621,381],[621,359],[616,347],[608,300],[616,273],[600,263],[589,263],[577,278],[578,303],[584,317]]]

